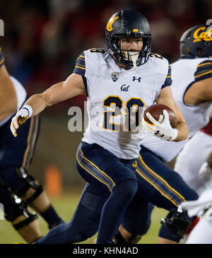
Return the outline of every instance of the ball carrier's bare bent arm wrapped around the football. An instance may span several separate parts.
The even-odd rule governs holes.
[[[158,104],[163,104],[163,105],[166,105],[167,107],[170,107],[170,109],[172,109],[175,112],[175,115],[177,118],[177,125],[175,129],[178,130],[177,138],[175,139],[175,141],[183,141],[184,139],[187,139],[188,127],[182,115],[181,110],[179,109],[178,105],[176,104],[172,96],[171,88],[169,86],[162,88],[160,90],[160,94],[158,95],[158,98],[155,101]]]

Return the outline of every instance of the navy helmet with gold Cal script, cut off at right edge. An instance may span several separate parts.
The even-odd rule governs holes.
[[[189,28],[179,40],[180,54],[184,58],[212,57],[212,28],[197,25]]]

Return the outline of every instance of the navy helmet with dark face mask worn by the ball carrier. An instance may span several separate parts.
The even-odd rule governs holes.
[[[126,69],[134,66],[133,61],[129,58],[129,50],[120,47],[120,40],[126,37],[143,39],[143,47],[137,58],[136,66],[144,64],[148,60],[151,52],[151,32],[148,20],[141,13],[133,10],[114,13],[107,23],[105,33],[107,49],[118,64],[123,64]],[[122,51],[127,52],[127,57],[123,56]]]

